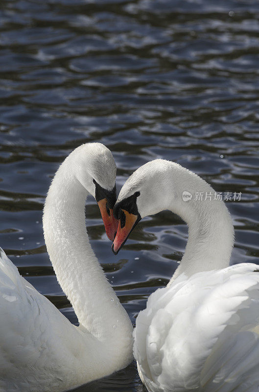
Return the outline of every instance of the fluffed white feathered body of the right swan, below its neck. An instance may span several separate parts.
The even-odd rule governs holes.
[[[136,321],[134,356],[157,392],[259,391],[259,272],[254,264],[180,275]]]

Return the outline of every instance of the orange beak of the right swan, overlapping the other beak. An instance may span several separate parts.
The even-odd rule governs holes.
[[[120,219],[118,224],[118,230],[115,237],[115,240],[112,245],[112,251],[114,254],[117,254],[120,248],[125,244],[127,241],[128,236],[140,221],[140,217],[138,215],[130,214],[126,210],[121,210],[122,214],[124,213],[123,218]],[[123,222],[123,223],[122,223]],[[121,227],[122,226],[122,227]]]

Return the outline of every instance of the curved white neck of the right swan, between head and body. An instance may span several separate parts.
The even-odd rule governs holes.
[[[214,200],[212,187],[180,165],[172,164],[169,168],[167,184],[171,184],[169,194],[165,193],[169,200],[167,208],[188,224],[188,243],[173,279],[182,272],[191,275],[228,267],[234,228],[225,203]],[[192,195],[190,200],[183,200],[184,191]],[[198,200],[199,195],[203,200]]]

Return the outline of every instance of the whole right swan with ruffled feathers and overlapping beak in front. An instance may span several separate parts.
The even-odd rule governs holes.
[[[196,192],[211,197],[199,201]],[[229,267],[231,216],[207,182],[162,159],[141,166],[114,206],[114,253],[141,218],[162,210],[187,222],[188,243],[168,285],[149,296],[136,319],[142,382],[151,392],[258,392],[259,266]]]

